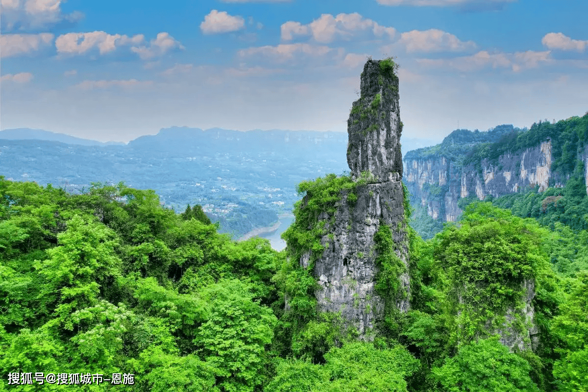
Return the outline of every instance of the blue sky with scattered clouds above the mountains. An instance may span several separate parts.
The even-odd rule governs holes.
[[[368,56],[405,138],[588,110],[586,0],[1,0],[0,129],[345,131]]]

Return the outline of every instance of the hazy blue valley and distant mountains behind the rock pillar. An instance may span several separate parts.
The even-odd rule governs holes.
[[[348,170],[346,132],[172,127],[128,144],[37,129],[0,131],[0,175],[82,192],[92,182],[154,189],[176,211],[200,204],[236,237],[273,225],[305,179]],[[403,139],[405,152],[435,143]]]

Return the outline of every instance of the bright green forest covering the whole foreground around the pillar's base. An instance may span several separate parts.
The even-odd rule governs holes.
[[[328,209],[354,186],[333,175],[298,190]],[[470,203],[426,241],[409,229],[411,309],[360,341],[317,311],[296,244],[322,244],[296,223],[276,252],[219,234],[199,206],[176,214],[151,190],[95,183],[71,195],[0,177],[0,390],[586,392],[588,215],[577,187]],[[570,211],[564,199],[582,210],[533,215],[537,203]],[[303,225],[309,210],[294,212]],[[514,311],[529,282],[534,326]],[[533,329],[533,341],[509,350],[501,328]]]

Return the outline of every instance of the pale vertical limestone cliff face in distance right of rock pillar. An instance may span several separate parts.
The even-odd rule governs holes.
[[[552,169],[556,160],[563,159],[562,150],[569,148],[567,140],[557,138],[559,128],[563,127],[560,123],[578,122],[579,125],[574,123],[573,126],[582,130],[586,127],[585,122],[576,120],[585,118],[586,115],[582,119],[562,120],[554,125],[548,123],[551,129],[547,127],[548,130],[544,132],[536,124],[530,130],[514,129],[506,125],[490,132],[456,130],[440,145],[407,152],[403,165],[410,202],[413,206],[422,207],[435,220],[455,222],[462,213],[457,202],[465,197],[485,200],[488,196],[500,197],[524,192],[536,186],[539,192],[550,186],[562,187],[569,179],[573,167],[569,167],[566,173]],[[466,135],[469,139],[463,136],[465,132],[469,132]],[[502,142],[505,147],[497,155],[493,149],[509,133],[515,135],[511,138],[512,148]],[[459,135],[461,140],[456,140],[455,135]],[[475,135],[483,136],[475,139]],[[524,148],[516,148],[517,143],[520,145],[520,136],[517,140],[516,135],[525,135],[527,139],[537,141],[527,142]],[[575,162],[576,159],[584,162],[583,177],[588,194],[588,144],[581,143],[582,140],[576,142],[577,150],[568,153],[572,156],[569,158],[570,162]],[[476,150],[476,147],[479,149]],[[554,149],[557,149],[557,154]],[[478,155],[472,156],[474,152]]]

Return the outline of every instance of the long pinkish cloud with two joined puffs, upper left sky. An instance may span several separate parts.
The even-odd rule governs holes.
[[[68,55],[83,55],[98,48],[99,53],[103,55],[121,46],[128,46],[131,52],[137,53],[143,60],[163,55],[172,49],[183,49],[182,44],[166,32],[158,33],[157,38],[152,39],[148,44],[141,45],[144,41],[145,36],[142,34],[130,37],[93,31],[60,35],[55,40],[55,47],[58,53]]]

